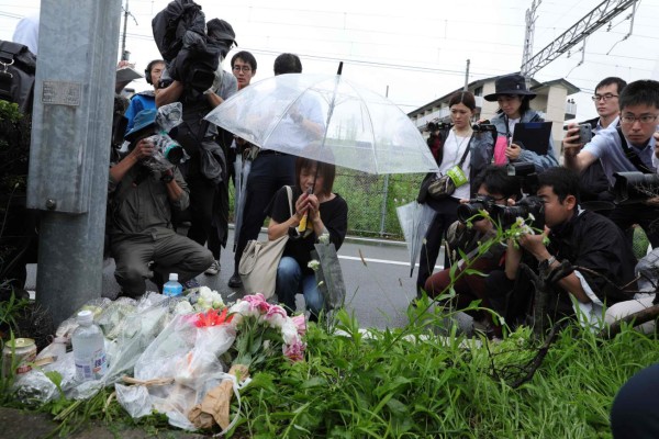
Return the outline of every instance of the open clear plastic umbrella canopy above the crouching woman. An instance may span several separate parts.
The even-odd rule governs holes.
[[[244,88],[205,119],[261,148],[369,173],[438,171],[407,115],[342,75],[268,78]],[[308,148],[312,144],[322,148]]]

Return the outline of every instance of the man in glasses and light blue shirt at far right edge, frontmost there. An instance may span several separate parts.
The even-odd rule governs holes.
[[[601,94],[602,95],[602,94]],[[610,99],[612,100],[613,93]],[[563,139],[565,166],[582,171],[600,159],[608,183],[614,184],[615,172],[656,172],[652,164],[655,138],[659,116],[659,82],[639,80],[629,83],[621,95],[618,127],[610,125],[583,145],[579,127],[570,124]],[[634,224],[643,227],[652,247],[659,245],[659,233],[652,222],[659,218],[659,209],[644,203],[616,206],[610,218],[623,230]]]

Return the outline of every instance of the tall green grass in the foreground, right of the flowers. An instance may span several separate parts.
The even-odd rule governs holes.
[[[659,359],[654,338],[626,329],[602,341],[572,325],[513,389],[498,372],[536,353],[530,330],[466,348],[461,336],[429,335],[443,317],[431,313],[404,338],[403,329],[367,338],[343,311],[346,337],[311,326],[306,362],[271,362],[245,389],[236,437],[607,438],[617,389]]]

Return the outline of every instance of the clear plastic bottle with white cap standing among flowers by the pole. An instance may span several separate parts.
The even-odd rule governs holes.
[[[79,312],[77,319],[79,326],[71,337],[76,379],[78,381],[99,380],[108,371],[103,331],[94,325],[91,311]]]

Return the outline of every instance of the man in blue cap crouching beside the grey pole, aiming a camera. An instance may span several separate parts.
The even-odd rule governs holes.
[[[131,297],[145,293],[147,279],[161,290],[169,273],[178,273],[182,283],[213,262],[208,249],[172,229],[171,210],[188,206],[189,190],[178,168],[164,157],[174,144],[158,135],[157,114],[156,110],[137,114],[125,137],[131,142],[129,154],[110,168],[110,255],[120,295]],[[165,142],[165,150],[154,140]]]

